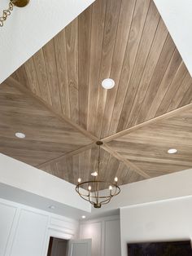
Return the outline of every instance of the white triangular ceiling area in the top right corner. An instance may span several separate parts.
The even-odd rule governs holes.
[[[154,0],[192,76],[192,1]]]

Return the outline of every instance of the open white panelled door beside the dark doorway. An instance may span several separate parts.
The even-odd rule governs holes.
[[[91,256],[91,239],[70,240],[68,256]]]

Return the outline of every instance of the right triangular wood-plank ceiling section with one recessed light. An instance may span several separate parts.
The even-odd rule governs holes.
[[[192,167],[192,106],[156,121],[107,145],[151,177]],[[168,154],[176,148],[176,154]]]

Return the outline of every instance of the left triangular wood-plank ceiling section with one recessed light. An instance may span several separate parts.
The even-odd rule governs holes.
[[[93,141],[26,91],[10,78],[0,87],[0,152],[37,166]],[[17,139],[15,132],[26,138]]]

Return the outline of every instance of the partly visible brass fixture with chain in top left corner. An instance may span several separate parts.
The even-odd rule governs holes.
[[[0,27],[3,26],[4,22],[7,20],[7,17],[11,15],[11,11],[13,11],[13,7],[26,7],[28,5],[29,0],[10,0],[9,7],[7,10],[2,11],[2,16],[0,16]]]

